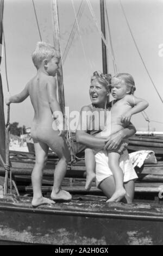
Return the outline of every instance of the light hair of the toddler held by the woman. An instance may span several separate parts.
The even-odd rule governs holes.
[[[130,93],[129,94],[134,94],[136,88],[135,88],[135,82],[134,82],[134,78],[128,74],[128,73],[118,73],[115,76],[113,76],[112,78],[118,78],[120,80],[123,80],[126,85],[130,88]]]

